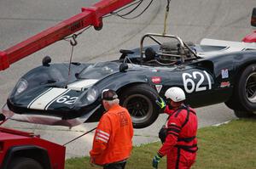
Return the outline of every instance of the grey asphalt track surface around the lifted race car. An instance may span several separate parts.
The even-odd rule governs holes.
[[[95,2],[93,0],[20,0],[19,3],[15,0],[0,1],[0,50],[9,48],[74,14],[79,14],[81,7],[88,7]],[[145,0],[139,10],[142,11],[148,2],[149,0]],[[167,33],[191,42],[200,42],[204,37],[241,41],[242,37],[253,30],[249,25],[253,7],[256,7],[255,0],[171,1]],[[79,36],[79,44],[74,48],[73,61],[96,62],[117,59],[120,48],[137,48],[143,34],[163,32],[165,8],[166,0],[158,0],[153,1],[148,10],[136,20],[122,20],[115,16],[105,18],[102,31],[90,28]],[[131,16],[134,15],[136,14]],[[5,104],[20,76],[41,65],[45,55],[51,56],[53,62],[67,62],[70,53],[71,46],[68,42],[56,42],[11,65],[8,70],[1,71],[0,105]],[[236,119],[233,110],[228,109],[224,104],[215,104],[196,111],[199,116],[199,127]],[[166,115],[160,115],[152,126],[135,130],[134,145],[157,141],[158,130],[165,120]],[[4,126],[32,131],[57,144],[65,144],[90,128],[96,127],[96,123],[68,128],[8,121]],[[93,133],[90,133],[68,144],[67,158],[88,155],[92,138]]]

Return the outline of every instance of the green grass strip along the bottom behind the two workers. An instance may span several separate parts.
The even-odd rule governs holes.
[[[219,127],[205,127],[198,131],[197,161],[193,169],[256,168],[256,120],[241,119]],[[126,169],[148,169],[160,142],[134,147]],[[89,157],[68,159],[66,169],[97,169],[89,164]],[[159,168],[166,168],[166,157]]]

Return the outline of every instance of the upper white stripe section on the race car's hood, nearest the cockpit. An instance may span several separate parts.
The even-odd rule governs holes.
[[[83,81],[71,83],[71,84],[67,85],[67,88],[76,90],[76,91],[83,91],[84,88],[90,87],[98,81],[99,80],[97,80],[97,79],[85,79]]]

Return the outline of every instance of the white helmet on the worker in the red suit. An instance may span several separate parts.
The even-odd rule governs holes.
[[[174,102],[180,102],[186,99],[183,89],[180,87],[171,87],[166,90],[166,99],[172,99]]]

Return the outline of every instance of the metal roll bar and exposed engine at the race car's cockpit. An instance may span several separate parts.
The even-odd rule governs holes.
[[[156,42],[157,45],[143,48],[143,41],[146,37]],[[159,38],[169,39],[167,42],[160,42]],[[199,58],[196,55],[193,42],[183,42],[179,37],[172,35],[150,33],[144,35],[141,40],[140,52],[143,65],[181,65]]]

